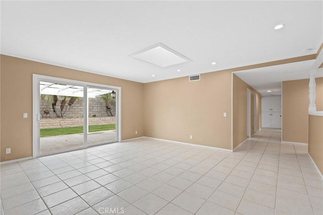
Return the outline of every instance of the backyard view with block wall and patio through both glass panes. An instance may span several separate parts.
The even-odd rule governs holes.
[[[40,82],[40,153],[117,140],[113,90]],[[87,114],[84,116],[84,106]],[[88,128],[84,135],[84,117]],[[85,138],[86,137],[86,138]]]

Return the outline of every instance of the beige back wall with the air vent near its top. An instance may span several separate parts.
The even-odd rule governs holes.
[[[144,112],[148,137],[231,149],[231,72],[146,83]]]

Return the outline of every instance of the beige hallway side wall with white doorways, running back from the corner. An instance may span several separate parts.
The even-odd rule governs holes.
[[[247,139],[247,88],[251,91],[251,135],[254,133],[254,126],[259,130],[261,95],[233,74],[233,148]],[[257,125],[254,125],[254,93],[257,95]]]

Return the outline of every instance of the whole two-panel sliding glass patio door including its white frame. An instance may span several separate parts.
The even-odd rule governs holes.
[[[33,157],[120,140],[121,88],[33,75]]]

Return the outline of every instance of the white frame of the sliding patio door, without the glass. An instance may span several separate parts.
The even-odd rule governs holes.
[[[74,151],[78,149],[84,149],[87,148],[87,130],[88,130],[88,116],[86,118],[83,118],[83,146],[78,148],[72,148],[72,149],[66,149],[66,150],[60,150],[59,152],[50,152],[50,153],[39,153],[39,147],[40,147],[40,134],[39,134],[39,120],[37,118],[40,118],[40,111],[39,111],[39,99],[40,99],[40,89],[39,89],[39,82],[45,81],[45,82],[59,82],[63,84],[73,84],[73,85],[79,85],[84,87],[83,91],[83,98],[85,101],[87,101],[87,87],[101,87],[101,88],[111,88],[116,90],[116,130],[117,130],[117,142],[121,142],[121,87],[118,86],[111,86],[111,85],[104,85],[104,84],[98,84],[98,83],[91,83],[91,82],[85,82],[85,81],[78,81],[78,80],[72,80],[72,79],[65,79],[65,78],[57,78],[52,76],[44,76],[44,75],[38,75],[33,74],[33,113],[32,113],[32,130],[33,130],[33,147],[32,147],[32,157],[40,157],[40,156],[46,156],[50,154],[57,154],[57,153],[63,153],[68,151]],[[86,116],[85,113],[88,111],[88,102],[83,105],[83,116]],[[86,135],[85,135],[86,134]],[[102,143],[105,144],[105,143]],[[98,144],[96,144],[98,145]],[[94,145],[95,146],[95,145]],[[91,147],[91,146],[90,146]]]

